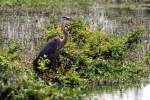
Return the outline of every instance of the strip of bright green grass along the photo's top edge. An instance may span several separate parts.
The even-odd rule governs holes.
[[[55,10],[61,8],[87,8],[91,7],[94,4],[99,4],[101,7],[105,8],[131,8],[137,9],[138,7],[143,7],[145,2],[138,1],[107,1],[107,0],[0,0],[0,6],[2,8],[15,8],[20,10],[26,10],[31,8],[46,8],[49,9],[55,8]]]

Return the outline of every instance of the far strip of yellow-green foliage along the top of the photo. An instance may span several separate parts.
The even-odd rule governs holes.
[[[136,8],[136,7],[141,7],[143,5],[142,1],[135,1],[135,0],[130,0],[128,2],[122,0],[115,0],[115,1],[109,1],[109,0],[0,0],[0,4],[2,5],[15,5],[15,6],[27,6],[27,7],[42,7],[42,6],[55,6],[59,7],[58,5],[62,6],[65,5],[67,6],[68,3],[72,3],[72,5],[76,5],[76,7],[82,6],[83,8],[89,6],[91,3],[100,3],[100,4],[112,4],[112,3],[117,3],[121,4],[122,8]]]

